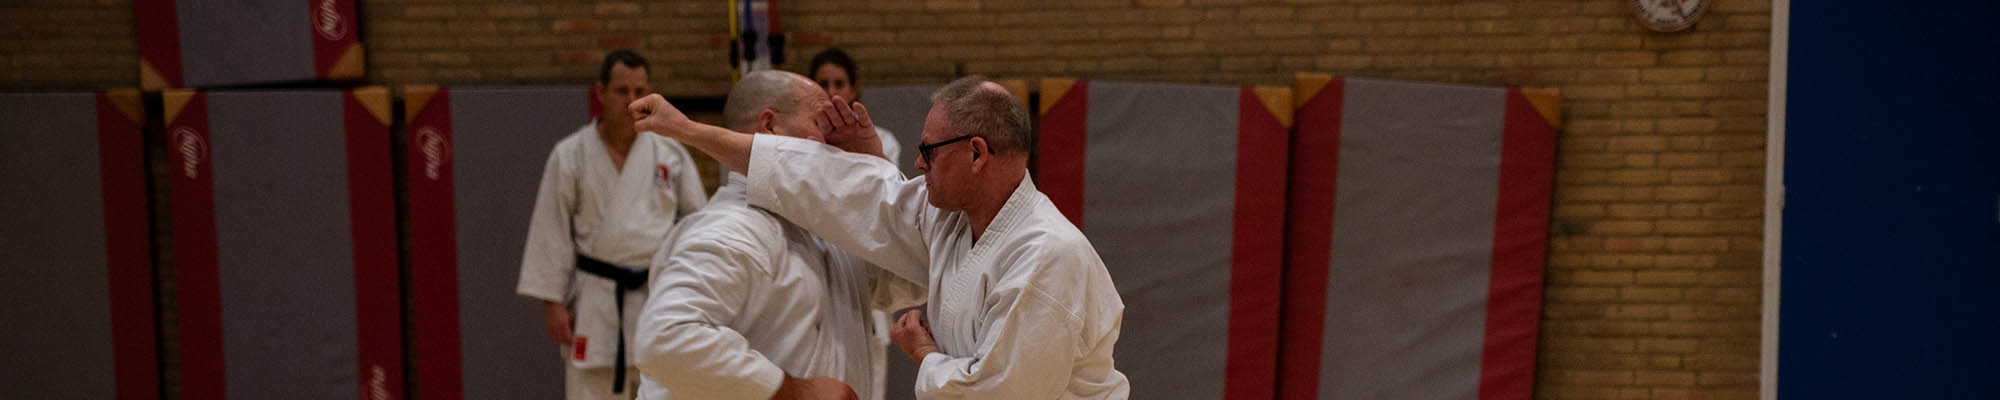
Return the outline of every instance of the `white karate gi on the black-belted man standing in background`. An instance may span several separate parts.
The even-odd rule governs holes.
[[[638,132],[622,170],[612,166],[596,122],[584,124],[548,152],[516,292],[570,306],[574,338],[584,352],[560,348],[568,366],[568,398],[610,396],[618,338],[632,338],[640,304],[646,302],[646,290],[618,294],[616,282],[576,270],[576,256],[646,270],[674,220],[708,204],[702,192],[702,178],[688,150],[652,132]],[[614,296],[624,296],[626,302],[624,332],[618,332]],[[540,320],[530,326],[540,326]],[[630,354],[626,360],[630,366]],[[638,386],[636,372],[626,374],[626,386]],[[612,398],[632,398],[636,390],[630,388]]]

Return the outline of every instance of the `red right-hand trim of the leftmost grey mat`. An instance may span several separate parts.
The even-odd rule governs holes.
[[[104,264],[112,304],[112,374],[118,400],[160,398],[154,338],[152,234],[146,230],[146,144],[140,126],[102,92],[98,178],[104,196]]]

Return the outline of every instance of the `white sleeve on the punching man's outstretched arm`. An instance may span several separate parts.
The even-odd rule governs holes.
[[[784,216],[912,282],[930,282],[932,214],[924,180],[894,164],[802,138],[758,134],[750,150],[750,204]]]

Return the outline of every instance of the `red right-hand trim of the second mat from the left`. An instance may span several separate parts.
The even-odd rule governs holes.
[[[388,126],[340,94],[348,152],[348,224],[354,236],[354,330],[360,394],[402,394],[402,288],[396,272],[396,178]]]

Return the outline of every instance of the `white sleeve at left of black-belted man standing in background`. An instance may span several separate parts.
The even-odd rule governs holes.
[[[576,238],[570,230],[576,214],[576,170],[562,150],[558,144],[542,166],[542,188],[534,194],[528,244],[520,256],[520,284],[514,286],[520,296],[548,302],[568,302],[570,276],[576,270]]]

